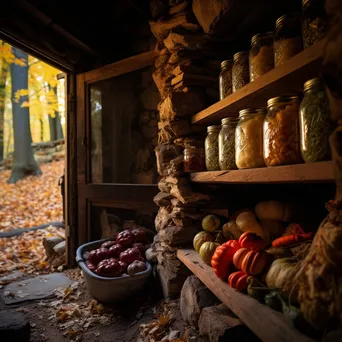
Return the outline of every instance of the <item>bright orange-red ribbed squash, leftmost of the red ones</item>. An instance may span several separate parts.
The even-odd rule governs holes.
[[[233,266],[233,256],[240,248],[236,240],[230,240],[216,248],[211,258],[211,266],[217,277],[227,280],[230,269]]]

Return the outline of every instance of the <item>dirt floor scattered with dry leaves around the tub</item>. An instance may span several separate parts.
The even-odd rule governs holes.
[[[4,304],[5,286],[0,286],[0,311],[22,312],[31,325],[31,342],[206,341],[196,330],[186,327],[178,299],[162,299],[153,277],[130,300],[102,305],[89,295],[79,269],[66,270],[65,274],[75,281],[71,287],[57,290],[52,298],[17,305]]]

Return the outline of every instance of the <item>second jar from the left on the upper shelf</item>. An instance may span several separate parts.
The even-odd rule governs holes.
[[[233,59],[232,91],[233,93],[249,83],[249,51],[237,52]]]

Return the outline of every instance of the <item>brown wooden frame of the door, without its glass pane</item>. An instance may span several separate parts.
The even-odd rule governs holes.
[[[130,209],[144,208],[150,211],[157,208],[152,201],[153,197],[158,193],[157,185],[92,184],[89,148],[91,143],[89,115],[90,85],[151,66],[156,58],[157,54],[154,51],[148,51],[76,76],[78,245],[90,241],[92,206]]]

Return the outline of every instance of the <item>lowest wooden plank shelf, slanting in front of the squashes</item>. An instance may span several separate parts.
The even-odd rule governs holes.
[[[293,328],[286,317],[235,291],[217,278],[193,249],[178,249],[177,257],[264,342],[313,342]]]

